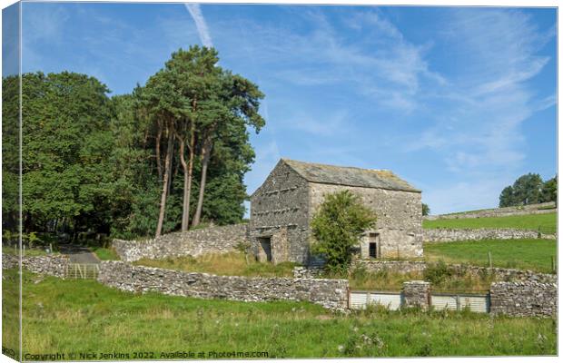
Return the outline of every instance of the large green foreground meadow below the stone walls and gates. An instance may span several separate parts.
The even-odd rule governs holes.
[[[5,279],[16,279],[15,270],[4,273]],[[202,351],[206,357],[210,351],[265,351],[269,358],[557,353],[555,319],[383,309],[343,316],[309,303],[136,295],[94,280],[28,272],[23,294],[24,353],[30,354],[116,352],[133,359],[133,352],[163,358],[162,352],[178,350]],[[9,296],[4,291],[3,299]],[[3,329],[8,344],[15,330]]]

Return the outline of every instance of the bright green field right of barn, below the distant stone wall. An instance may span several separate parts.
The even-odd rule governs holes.
[[[426,260],[552,272],[551,257],[557,258],[556,240],[476,240],[425,243]],[[557,268],[557,266],[556,266]]]

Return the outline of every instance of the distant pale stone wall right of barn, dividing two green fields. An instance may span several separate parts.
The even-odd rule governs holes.
[[[554,234],[543,234],[538,231],[518,230],[512,228],[479,228],[479,229],[425,229],[422,240],[425,242],[455,242],[459,240],[521,240],[521,239],[555,240]]]

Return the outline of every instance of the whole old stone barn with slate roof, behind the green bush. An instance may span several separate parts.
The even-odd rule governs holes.
[[[313,262],[309,223],[324,195],[349,190],[375,211],[361,258],[422,256],[420,191],[390,171],[282,159],[251,196],[249,236],[258,260]]]

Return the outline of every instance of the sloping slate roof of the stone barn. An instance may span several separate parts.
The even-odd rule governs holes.
[[[361,169],[312,162],[282,159],[295,172],[309,182],[347,185],[351,187],[379,188],[390,191],[418,191],[388,170]]]

